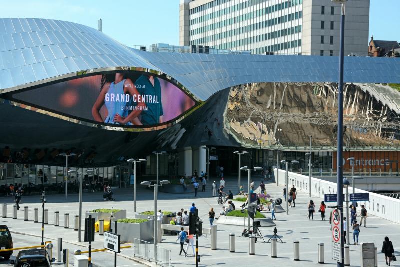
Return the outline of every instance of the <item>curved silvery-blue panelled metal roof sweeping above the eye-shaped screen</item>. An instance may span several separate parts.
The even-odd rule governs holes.
[[[337,82],[338,57],[153,53],[94,28],[35,18],[0,19],[0,93],[79,71],[120,66],[172,76],[200,100],[251,82]],[[345,82],[400,83],[400,58],[345,58]]]

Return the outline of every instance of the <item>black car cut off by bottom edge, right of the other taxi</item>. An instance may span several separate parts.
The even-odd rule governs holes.
[[[55,258],[50,259],[48,253],[44,249],[27,249],[19,251],[15,260],[11,260],[14,267],[51,267],[51,262]]]

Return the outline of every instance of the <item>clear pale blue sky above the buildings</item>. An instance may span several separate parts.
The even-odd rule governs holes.
[[[398,4],[400,0],[370,0],[369,38],[400,41]],[[101,18],[103,32],[122,44],[179,44],[179,0],[7,0],[1,3],[0,17],[58,19],[94,28]]]

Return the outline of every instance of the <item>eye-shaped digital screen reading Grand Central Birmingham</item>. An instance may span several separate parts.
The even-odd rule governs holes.
[[[69,117],[125,127],[172,122],[196,104],[172,82],[143,72],[76,78],[17,92],[12,99]]]

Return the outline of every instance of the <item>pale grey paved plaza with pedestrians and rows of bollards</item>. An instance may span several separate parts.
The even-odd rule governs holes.
[[[256,184],[258,181],[255,181]],[[226,180],[226,189],[237,188],[237,181],[233,178]],[[267,193],[272,198],[282,197],[283,187],[277,187],[275,183],[267,183]],[[257,189],[258,191],[258,189]],[[127,216],[134,217],[132,190],[119,189],[115,190],[115,202],[102,201],[102,193],[85,193],[83,196],[83,212],[96,208],[117,208],[127,209]],[[158,195],[158,208],[161,210],[177,212],[180,208],[189,209],[191,203],[194,202],[199,209],[199,216],[203,220],[203,227],[209,227],[208,211],[211,207],[219,213],[222,206],[217,204],[217,198],[211,197],[210,186],[208,185],[206,192],[199,192],[198,197],[194,194],[168,194],[160,192]],[[3,197],[3,203],[12,203],[11,197]],[[153,210],[153,192],[151,190],[139,190],[137,195],[138,212]],[[322,199],[316,197],[312,198],[318,206]],[[77,231],[73,230],[73,217],[78,214],[78,195],[71,194],[68,196],[68,201],[65,201],[63,195],[50,195],[47,197],[48,203],[46,209],[49,210],[49,225],[45,226],[45,240],[53,241],[56,244],[56,239],[62,237],[64,240],[64,247],[69,248],[72,252],[74,249],[86,250],[87,243],[77,242]],[[277,258],[271,258],[271,244],[263,243],[262,239],[258,239],[255,245],[255,255],[249,255],[249,239],[241,237],[243,231],[242,226],[233,225],[218,225],[217,226],[217,250],[211,250],[210,236],[202,236],[199,238],[199,254],[201,255],[201,262],[199,266],[217,266],[217,265],[245,265],[251,264],[253,266],[261,266],[266,264],[284,264],[285,266],[316,266],[318,264],[318,243],[324,243],[325,247],[325,264],[332,265],[336,262],[331,259],[331,232],[328,221],[330,210],[326,210],[326,221],[321,221],[320,214],[315,213],[314,220],[309,220],[306,217],[307,204],[309,197],[307,194],[299,192],[296,199],[296,207],[289,209],[289,215],[286,213],[277,213],[278,236],[284,243],[278,242],[277,244]],[[240,202],[236,203],[239,207]],[[284,204],[282,204],[285,207]],[[327,205],[329,205],[327,203]],[[6,224],[13,236],[14,247],[26,245],[38,245],[41,242],[41,223],[33,223],[33,208],[38,207],[41,209],[40,196],[25,196],[22,199],[21,207],[29,206],[29,221],[23,220],[23,208],[18,212],[18,219],[12,219],[11,205],[8,205],[7,218],[1,218],[1,224]],[[54,211],[60,211],[60,227],[54,227]],[[64,229],[63,213],[69,212],[70,214],[70,228]],[[388,211],[395,212],[395,211]],[[270,214],[266,214],[270,216]],[[41,212],[39,215],[41,221]],[[261,228],[262,235],[265,240],[269,239],[273,234],[273,227]],[[352,239],[352,231],[350,231],[350,238]],[[235,253],[229,252],[229,233],[235,233],[236,245]],[[359,243],[361,242],[374,242],[378,247],[378,265],[385,265],[384,256],[380,253],[383,238],[389,236],[393,241],[394,250],[396,254],[400,250],[400,227],[398,224],[381,219],[379,217],[368,216],[367,227],[361,228]],[[191,249],[189,257],[179,256],[179,243],[176,242],[175,235],[163,235],[162,247],[172,251],[172,265],[173,266],[190,266],[195,265],[195,259],[191,256]],[[103,247],[103,238],[96,234],[93,249]],[[300,242],[300,261],[293,261],[293,241]],[[353,243],[353,241],[351,241]],[[53,249],[53,257],[55,257],[56,250]],[[17,253],[14,252],[13,256]],[[133,261],[133,248],[123,249],[118,256],[118,266],[139,266],[142,264],[151,263],[142,261],[142,259],[135,259]],[[113,266],[113,255],[110,252],[97,252],[92,255],[92,261],[95,266]],[[8,261],[9,262],[9,261]],[[0,262],[4,266],[5,261]],[[70,253],[70,264],[73,263],[73,255]],[[350,265],[360,266],[360,246],[350,246]],[[394,264],[392,266],[400,266]]]

